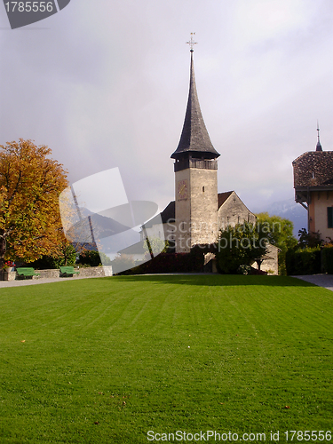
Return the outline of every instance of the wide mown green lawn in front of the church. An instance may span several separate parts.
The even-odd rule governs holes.
[[[274,276],[1,289],[0,443],[331,430],[332,307],[331,291]]]

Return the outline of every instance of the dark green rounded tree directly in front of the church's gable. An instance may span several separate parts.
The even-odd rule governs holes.
[[[266,254],[266,236],[261,227],[244,222],[227,226],[218,236],[216,258],[222,273],[235,274]]]

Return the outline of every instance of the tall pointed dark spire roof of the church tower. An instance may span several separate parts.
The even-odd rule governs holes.
[[[171,155],[172,159],[179,159],[185,153],[202,154],[210,159],[219,156],[210,142],[210,136],[203,122],[202,112],[196,92],[193,52],[191,52],[190,90],[185,115],[183,131],[180,136],[176,151]]]

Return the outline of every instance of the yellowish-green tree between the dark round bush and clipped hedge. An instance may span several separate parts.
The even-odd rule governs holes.
[[[269,216],[268,213],[258,213],[257,225],[260,226],[268,242],[278,247],[279,274],[286,274],[286,252],[297,246],[297,239],[293,235],[294,225],[291,220],[280,216]]]

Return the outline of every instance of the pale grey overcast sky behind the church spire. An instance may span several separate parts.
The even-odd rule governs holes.
[[[71,0],[12,30],[0,8],[0,145],[52,148],[71,183],[119,167],[130,200],[174,199],[195,32],[218,191],[293,196],[291,162],[333,150],[332,0]],[[97,190],[100,192],[101,190]]]

